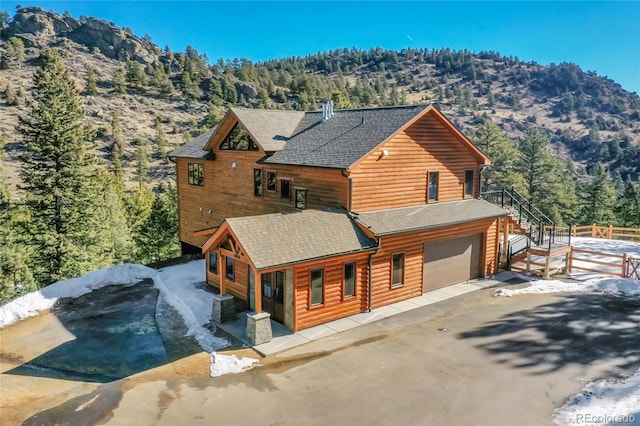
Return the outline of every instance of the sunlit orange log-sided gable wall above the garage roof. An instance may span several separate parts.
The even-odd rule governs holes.
[[[382,157],[382,150],[388,155]],[[434,116],[382,144],[350,171],[356,212],[427,202],[428,173],[439,172],[438,202],[461,200],[466,170],[474,170],[474,193],[483,160]]]

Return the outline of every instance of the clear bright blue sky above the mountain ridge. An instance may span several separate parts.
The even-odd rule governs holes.
[[[260,61],[342,47],[497,51],[573,62],[640,94],[640,2],[5,1],[102,18],[218,58]]]

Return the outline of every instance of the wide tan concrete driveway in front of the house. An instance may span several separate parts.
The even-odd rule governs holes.
[[[102,384],[3,375],[3,417],[74,425],[545,425],[586,383],[640,364],[638,301],[492,295],[482,290],[389,317],[215,379],[204,353]]]

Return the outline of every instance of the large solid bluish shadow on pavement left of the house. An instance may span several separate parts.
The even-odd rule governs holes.
[[[158,294],[144,280],[59,300],[53,312],[74,339],[4,374],[105,383],[201,352]]]

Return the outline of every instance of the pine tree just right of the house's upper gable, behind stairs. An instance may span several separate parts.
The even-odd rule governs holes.
[[[491,165],[482,172],[483,190],[515,187],[523,192],[524,178],[514,167],[518,149],[504,132],[486,119],[476,130],[474,142],[491,160]]]

